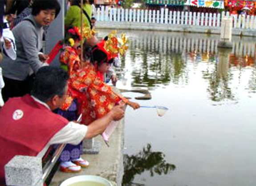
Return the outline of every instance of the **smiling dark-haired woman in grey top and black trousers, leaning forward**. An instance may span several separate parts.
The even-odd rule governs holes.
[[[32,15],[29,15],[12,30],[16,40],[16,60],[4,58],[3,69],[5,87],[2,90],[4,101],[9,97],[20,97],[31,90],[30,75],[47,65],[48,56],[40,53],[43,40],[43,26],[49,26],[60,12],[57,0],[45,3],[35,0]]]

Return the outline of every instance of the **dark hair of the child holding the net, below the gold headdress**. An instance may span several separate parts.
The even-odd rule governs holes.
[[[98,49],[98,46],[93,46],[92,52],[91,52],[91,63],[92,64],[97,64],[98,66],[101,65],[102,63],[107,62],[107,63],[113,63],[114,59],[108,60],[107,54],[103,52],[102,50]]]

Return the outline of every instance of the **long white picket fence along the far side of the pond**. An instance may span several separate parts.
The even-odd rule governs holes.
[[[188,25],[201,27],[220,27],[221,18],[232,17],[233,28],[256,30],[256,16],[229,15],[229,12],[200,13],[161,10],[136,10],[101,7],[95,10],[96,19],[104,22],[136,22]]]

